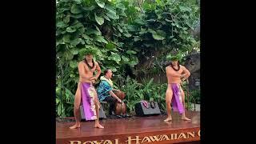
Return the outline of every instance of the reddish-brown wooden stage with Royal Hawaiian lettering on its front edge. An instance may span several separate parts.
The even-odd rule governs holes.
[[[192,121],[182,121],[177,113],[171,122],[164,122],[166,115],[102,119],[104,129],[94,128],[94,121],[81,122],[81,128],[70,130],[74,122],[56,122],[57,144],[90,143],[179,143],[200,142],[200,112],[187,111]]]

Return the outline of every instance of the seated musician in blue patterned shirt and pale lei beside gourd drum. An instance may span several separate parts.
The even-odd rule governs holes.
[[[122,102],[120,98],[116,94],[114,94],[113,82],[112,78],[112,70],[106,69],[104,71],[104,76],[100,78],[101,82],[97,88],[98,92],[98,100],[100,102],[108,102],[110,103],[110,111],[109,114],[113,114],[114,112],[114,104],[115,102]]]

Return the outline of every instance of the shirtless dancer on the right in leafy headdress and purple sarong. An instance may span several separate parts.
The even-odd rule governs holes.
[[[166,77],[168,80],[168,87],[166,90],[166,108],[167,108],[167,118],[165,122],[171,121],[170,114],[170,103],[172,104],[174,111],[178,111],[182,114],[182,120],[190,121],[190,118],[186,118],[185,115],[185,94],[181,87],[182,80],[185,80],[190,76],[190,71],[186,69],[185,66],[178,64],[178,59],[180,56],[176,55],[171,57],[168,55],[166,57],[171,61],[170,66],[166,66]]]

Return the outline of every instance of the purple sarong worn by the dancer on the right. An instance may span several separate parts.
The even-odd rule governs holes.
[[[178,111],[179,114],[184,113],[184,106],[182,103],[182,93],[181,93],[181,86],[178,83],[172,83],[170,85],[171,90],[173,90],[173,98],[171,100],[171,105],[174,111]]]

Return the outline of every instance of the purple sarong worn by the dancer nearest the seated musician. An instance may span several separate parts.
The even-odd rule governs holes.
[[[90,83],[81,83],[82,106],[86,120],[95,120],[97,118],[94,102],[95,92],[94,86],[91,86]]]

